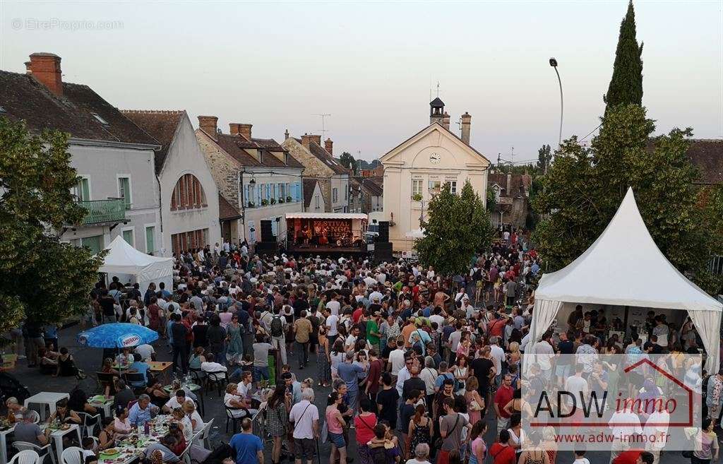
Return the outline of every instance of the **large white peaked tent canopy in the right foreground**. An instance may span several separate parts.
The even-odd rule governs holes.
[[[723,305],[690,282],[663,256],[643,223],[633,189],[607,228],[568,266],[545,274],[535,292],[530,343],[549,328],[558,312],[577,304],[683,309],[708,353],[706,369],[719,368]]]

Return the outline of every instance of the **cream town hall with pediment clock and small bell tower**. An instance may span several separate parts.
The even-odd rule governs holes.
[[[395,251],[411,251],[422,231],[429,200],[443,186],[461,191],[469,180],[485,202],[489,160],[469,145],[471,116],[461,116],[461,135],[450,132],[450,116],[440,98],[429,103],[424,127],[380,159],[384,166],[383,215],[390,221],[389,239]]]

